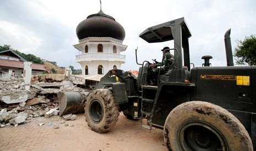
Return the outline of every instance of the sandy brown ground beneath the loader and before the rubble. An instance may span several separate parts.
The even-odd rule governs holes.
[[[18,127],[0,127],[0,150],[167,150],[163,130],[141,129],[139,120],[129,120],[122,113],[107,133],[91,131],[84,114],[64,123],[69,126],[61,124],[62,120],[40,117]],[[59,124],[58,129],[53,129],[54,123]]]

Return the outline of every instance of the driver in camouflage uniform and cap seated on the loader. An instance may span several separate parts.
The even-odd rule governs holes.
[[[162,61],[162,68],[160,70],[160,74],[165,74],[166,72],[168,72],[170,69],[173,68],[173,55],[170,53],[170,48],[169,47],[165,47],[164,49],[162,49],[163,53],[164,53],[164,60]],[[161,66],[161,62],[156,62],[156,63],[152,63],[149,67],[151,68],[151,72],[149,73],[149,79],[150,79],[150,83],[149,85],[156,85],[157,82],[157,75],[159,73],[159,69],[157,68]]]

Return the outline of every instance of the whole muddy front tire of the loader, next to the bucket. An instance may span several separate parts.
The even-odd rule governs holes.
[[[107,132],[118,121],[119,111],[112,92],[106,89],[92,91],[85,104],[85,120],[91,130]]]

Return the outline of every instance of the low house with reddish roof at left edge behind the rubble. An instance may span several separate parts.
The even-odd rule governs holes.
[[[0,79],[6,80],[12,77],[23,77],[24,62],[26,60],[12,50],[0,52]],[[50,73],[45,65],[32,63],[32,75]]]

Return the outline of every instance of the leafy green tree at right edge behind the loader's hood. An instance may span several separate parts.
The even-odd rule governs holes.
[[[256,65],[256,37],[251,35],[246,37],[243,41],[237,40],[237,47],[235,48],[234,56],[237,57],[236,63],[244,65],[248,63],[250,66]]]

